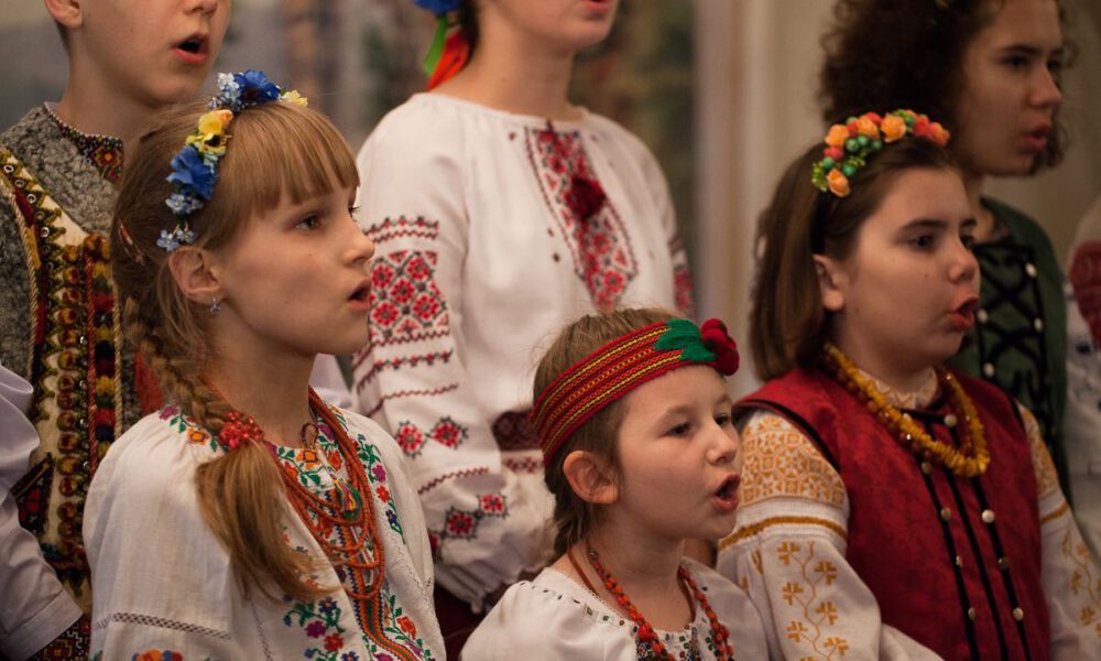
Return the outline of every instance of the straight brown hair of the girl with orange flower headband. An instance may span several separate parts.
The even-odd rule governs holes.
[[[765,381],[796,367],[814,369],[829,339],[814,256],[849,257],[860,227],[903,172],[959,170],[944,148],[904,138],[870,156],[849,178],[851,193],[837,197],[810,181],[811,167],[821,158],[819,142],[788,165],[757,221],[756,242],[764,252],[753,288],[750,348],[757,377]]]

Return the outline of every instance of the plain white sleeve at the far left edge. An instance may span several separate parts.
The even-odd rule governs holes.
[[[26,659],[80,617],[33,534],[19,525],[11,489],[26,473],[39,434],[23,411],[31,384],[0,366],[0,658]]]

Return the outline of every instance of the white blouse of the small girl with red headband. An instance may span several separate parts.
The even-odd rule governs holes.
[[[690,560],[685,560],[685,565],[719,622],[727,627],[734,658],[768,659],[761,616],[745,593],[715,570]],[[637,629],[588,588],[548,567],[534,581],[509,588],[470,635],[462,658],[636,661],[642,658]],[[699,605],[687,627],[656,633],[674,659],[716,659],[711,625]]]

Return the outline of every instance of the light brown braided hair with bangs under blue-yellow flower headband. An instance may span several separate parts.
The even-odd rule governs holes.
[[[210,315],[179,290],[170,253],[156,245],[161,231],[176,225],[165,204],[174,192],[166,181],[172,159],[207,110],[193,105],[159,115],[127,154],[111,227],[111,268],[127,339],[156,375],[165,399],[218,434],[229,407],[203,379],[205,366],[217,360]],[[188,218],[197,235],[194,248],[177,250],[217,251],[284,198],[298,204],[359,183],[340,133],[308,108],[282,101],[247,108],[227,133],[214,195]],[[255,587],[279,599],[272,583],[298,599],[331,592],[304,578],[323,559],[307,557],[283,540],[281,519],[288,510],[279,468],[265,447],[247,443],[203,464],[196,483],[203,518],[228,552],[246,594]]]

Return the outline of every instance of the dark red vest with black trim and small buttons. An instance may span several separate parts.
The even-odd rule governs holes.
[[[955,372],[953,372],[955,373]],[[849,564],[875,595],[883,622],[955,659],[1048,658],[1040,530],[1032,453],[1016,405],[995,387],[955,373],[985,429],[991,462],[971,479],[924,463],[864,404],[822,372],[793,370],[738,403],[799,427],[849,495]],[[959,445],[941,397],[907,411]]]

